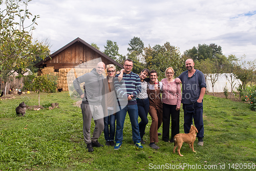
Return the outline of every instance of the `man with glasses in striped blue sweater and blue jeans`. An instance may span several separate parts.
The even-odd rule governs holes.
[[[123,141],[123,124],[128,112],[132,124],[133,141],[137,148],[143,148],[140,143],[140,133],[138,124],[138,106],[136,96],[141,92],[140,77],[132,72],[133,61],[126,59],[124,61],[123,78],[119,82],[118,75],[115,76],[114,85],[119,100],[120,111],[116,113],[116,145],[114,149],[119,149]],[[128,103],[127,103],[128,100]]]

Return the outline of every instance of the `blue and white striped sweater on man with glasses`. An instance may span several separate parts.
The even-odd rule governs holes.
[[[140,77],[138,74],[131,72],[130,74],[123,73],[123,78],[119,82],[117,74],[115,76],[114,84],[120,105],[127,104],[127,97],[133,95],[133,99],[128,101],[128,105],[137,104],[136,97],[141,92]]]

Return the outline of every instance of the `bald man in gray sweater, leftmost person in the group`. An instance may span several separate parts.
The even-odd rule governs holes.
[[[86,73],[73,81],[74,88],[82,98],[81,110],[83,118],[83,139],[87,144],[88,152],[93,152],[93,147],[102,147],[98,142],[102,131],[104,130],[104,114],[101,105],[102,101],[102,87],[105,71],[105,64],[103,62],[97,63],[90,73]],[[80,83],[85,83],[84,92],[80,88]],[[91,139],[90,127],[91,120],[94,119],[95,127],[93,137]]]

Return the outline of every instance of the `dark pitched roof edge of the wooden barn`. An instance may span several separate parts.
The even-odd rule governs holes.
[[[63,50],[69,48],[70,46],[72,46],[73,44],[75,44],[76,42],[81,42],[83,45],[87,46],[88,48],[92,49],[93,51],[95,51],[96,53],[99,53],[101,56],[103,56],[104,58],[110,60],[111,62],[114,63],[114,65],[117,65],[120,68],[123,68],[123,66],[118,63],[117,61],[115,61],[114,59],[112,59],[111,57],[109,57],[108,55],[105,55],[104,53],[102,53],[101,51],[99,51],[98,49],[94,48],[93,46],[91,46],[90,44],[88,44],[86,41],[82,40],[81,38],[77,37],[76,39],[74,39],[73,41],[71,41],[69,44],[67,44],[66,46],[63,46],[62,48],[60,48],[59,50],[57,50],[56,52],[54,52],[53,54],[51,54],[50,56],[46,57],[44,60],[41,60],[40,62],[36,63],[36,65],[34,65],[37,68],[40,68],[44,65],[44,62],[51,60],[54,56],[56,56],[57,54],[59,54],[60,52],[62,52]]]

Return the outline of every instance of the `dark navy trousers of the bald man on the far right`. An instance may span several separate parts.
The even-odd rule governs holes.
[[[183,104],[184,110],[184,132],[189,133],[190,126],[193,124],[198,130],[197,137],[202,139],[204,137],[204,122],[203,122],[203,102],[195,102],[193,104]]]

